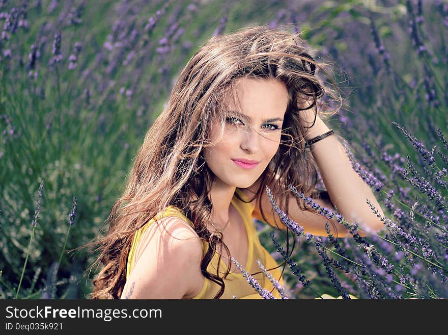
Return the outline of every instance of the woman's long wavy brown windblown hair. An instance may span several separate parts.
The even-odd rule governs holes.
[[[229,256],[230,252],[222,240],[210,238],[206,228],[212,211],[208,194],[214,174],[205,164],[203,149],[214,144],[209,140],[213,122],[219,120],[224,127],[222,101],[226,96],[235,96],[234,83],[238,78],[276,79],[285,84],[289,95],[281,143],[259,178],[255,197],[260,207],[260,194],[265,192],[266,185],[272,186],[275,201],[286,213],[289,184],[305,196],[316,196],[313,190],[319,182],[317,167],[311,156],[305,154],[300,110],[313,108],[317,113],[318,106],[323,106],[317,99],[324,93],[342,100],[318,79],[319,69],[329,78],[323,70],[327,64],[316,63],[309,52],[298,34],[257,26],[212,37],[191,57],[136,154],[125,190],[106,220],[107,234],[86,245],[99,245],[96,250],[100,254],[92,267],[103,264],[93,280],[93,299],[121,297],[135,231],[168,205],[182,210],[194,222],[198,236],[209,242],[201,270],[221,287],[214,299],[223,294],[223,279],[230,271],[230,261],[222,277],[218,271],[216,274],[207,271],[218,246]],[[303,101],[311,103],[302,108]],[[309,210],[300,198],[297,203],[302,210]],[[265,214],[261,214],[266,220]]]

